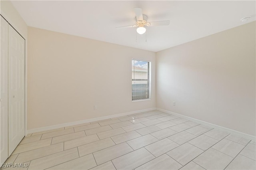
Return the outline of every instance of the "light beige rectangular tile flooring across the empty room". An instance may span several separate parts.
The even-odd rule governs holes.
[[[160,111],[28,134],[16,169],[255,170],[255,139]],[[15,169],[15,168],[2,168]]]

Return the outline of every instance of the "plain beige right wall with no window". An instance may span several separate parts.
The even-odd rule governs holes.
[[[157,52],[156,106],[255,136],[255,24]]]

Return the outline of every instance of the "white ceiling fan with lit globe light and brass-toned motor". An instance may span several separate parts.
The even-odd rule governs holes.
[[[137,32],[138,34],[144,34],[146,32],[146,28],[144,26],[168,26],[170,24],[170,20],[165,21],[155,21],[155,22],[147,22],[148,17],[142,14],[141,8],[134,8],[134,12],[136,15],[136,24],[132,26],[122,26],[116,28],[133,28],[138,27]]]

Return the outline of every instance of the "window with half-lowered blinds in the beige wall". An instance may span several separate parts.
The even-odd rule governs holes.
[[[132,101],[150,99],[150,62],[132,59]]]

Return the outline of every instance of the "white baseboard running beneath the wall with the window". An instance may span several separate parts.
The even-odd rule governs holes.
[[[59,124],[59,125],[52,125],[52,126],[48,126],[48,127],[33,128],[33,129],[27,130],[26,135],[29,134],[29,133],[35,133],[35,132],[41,132],[41,131],[45,131],[45,130],[52,130],[52,129],[56,129],[56,128],[63,128],[63,127],[68,127],[68,126],[73,126],[73,125],[79,125],[79,124],[82,124],[82,123],[101,121],[101,120],[104,120],[104,119],[110,119],[110,118],[115,118],[115,117],[132,115],[132,114],[136,114],[136,113],[141,113],[141,112],[146,112],[146,111],[153,111],[153,110],[156,110],[156,108],[153,107],[153,108],[149,108],[149,109],[142,109],[142,110],[138,110],[138,111],[120,113],[120,114],[116,114],[116,115],[109,115],[109,116],[104,116],[104,117],[96,117],[96,118],[92,118],[92,119],[85,119],[85,120],[82,120],[82,121],[62,123],[62,124]]]

